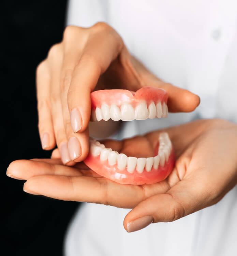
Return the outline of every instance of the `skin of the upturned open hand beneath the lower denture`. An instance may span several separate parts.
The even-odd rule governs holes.
[[[152,216],[153,223],[167,222],[201,210],[220,201],[237,184],[236,124],[198,120],[162,131],[172,140],[176,164],[173,172],[156,184],[121,185],[83,163],[62,165],[58,150],[53,159],[14,161],[7,175],[27,180],[24,191],[31,194],[133,208],[124,219],[126,230],[128,223],[140,217]],[[153,152],[160,132],[105,144],[128,155],[146,157]]]

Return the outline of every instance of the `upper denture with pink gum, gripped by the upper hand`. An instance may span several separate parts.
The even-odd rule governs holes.
[[[167,93],[160,88],[143,87],[136,93],[128,90],[101,90],[91,93],[92,121],[146,120],[168,116]]]

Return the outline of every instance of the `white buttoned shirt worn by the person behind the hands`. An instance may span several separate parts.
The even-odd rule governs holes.
[[[192,113],[126,122],[117,138],[196,118],[237,121],[236,0],[71,0],[68,24],[105,21],[129,51],[162,80],[201,97]],[[216,205],[174,221],[127,233],[128,209],[84,204],[73,218],[65,255],[208,255],[237,253],[237,186]]]

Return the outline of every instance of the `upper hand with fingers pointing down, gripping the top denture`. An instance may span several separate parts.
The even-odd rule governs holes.
[[[129,54],[121,37],[109,25],[66,27],[62,42],[51,47],[36,70],[43,149],[57,144],[62,162],[67,165],[73,164],[71,160],[84,160],[89,150],[90,93],[94,89],[136,91],[142,86],[165,89],[171,112],[189,112],[199,104],[197,95],[153,76]]]

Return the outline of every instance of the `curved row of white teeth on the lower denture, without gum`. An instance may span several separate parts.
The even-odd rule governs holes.
[[[127,170],[129,173],[133,173],[136,169],[138,173],[142,173],[144,170],[150,172],[152,167],[157,170],[159,166],[164,166],[168,161],[169,155],[172,150],[172,143],[167,133],[161,133],[159,136],[159,149],[158,154],[155,157],[128,157],[125,154],[120,154],[117,151],[113,151],[111,148],[105,148],[105,145],[100,144],[96,140],[90,140],[90,153],[94,157],[100,156],[100,161],[108,161],[110,166],[117,165],[119,170]]]

